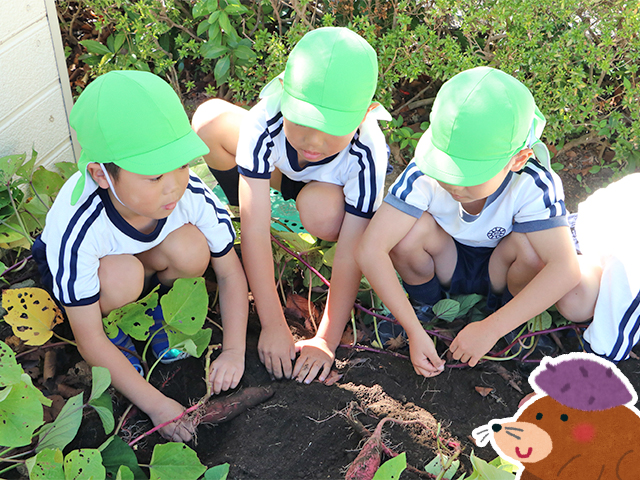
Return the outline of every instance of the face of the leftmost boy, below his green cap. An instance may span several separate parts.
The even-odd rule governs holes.
[[[166,218],[176,208],[189,183],[189,166],[184,165],[162,175],[139,175],[120,170],[114,188],[124,203],[125,218],[141,216],[159,220]],[[116,208],[123,207],[114,200]],[[118,208],[121,210],[121,208]]]

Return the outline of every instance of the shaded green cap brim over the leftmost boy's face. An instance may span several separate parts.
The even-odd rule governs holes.
[[[209,153],[209,147],[190,130],[173,142],[149,152],[114,162],[120,168],[139,175],[161,175]]]

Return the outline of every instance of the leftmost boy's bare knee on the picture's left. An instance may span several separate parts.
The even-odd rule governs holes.
[[[100,259],[100,309],[103,315],[135,302],[144,286],[144,266],[133,255],[108,255]]]

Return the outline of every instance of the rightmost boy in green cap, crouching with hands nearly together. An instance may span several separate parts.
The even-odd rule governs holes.
[[[357,252],[424,376],[444,362],[413,307],[428,310],[445,293],[486,295],[494,313],[449,348],[475,366],[554,303],[570,312],[585,289],[562,184],[539,140],[545,119],[529,90],[500,70],[466,70],[442,86],[430,120]]]

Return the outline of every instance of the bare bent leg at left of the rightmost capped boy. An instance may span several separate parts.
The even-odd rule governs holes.
[[[434,275],[442,285],[449,285],[457,263],[453,239],[426,212],[389,255],[402,279],[411,285],[426,283]]]

